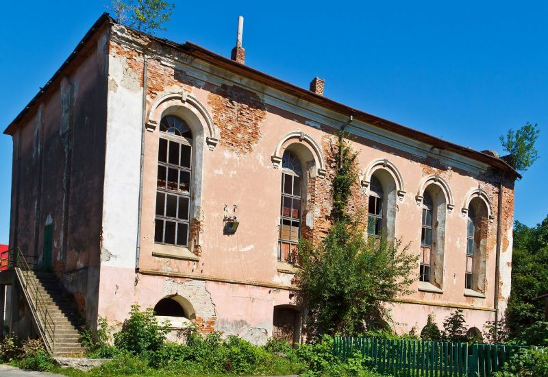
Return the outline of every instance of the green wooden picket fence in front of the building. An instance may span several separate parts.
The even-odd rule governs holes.
[[[412,377],[490,377],[521,347],[335,337],[333,354],[343,360],[357,352],[380,373]]]

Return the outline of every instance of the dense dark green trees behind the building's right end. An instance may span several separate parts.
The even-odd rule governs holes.
[[[512,254],[512,293],[506,310],[508,327],[521,331],[544,319],[548,293],[548,217],[534,227],[516,221]]]

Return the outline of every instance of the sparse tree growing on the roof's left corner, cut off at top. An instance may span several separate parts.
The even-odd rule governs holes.
[[[175,4],[164,0],[112,0],[110,8],[119,23],[154,34],[166,30],[163,24],[171,20]]]

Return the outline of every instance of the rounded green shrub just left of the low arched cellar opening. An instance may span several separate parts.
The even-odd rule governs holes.
[[[129,318],[122,325],[122,330],[114,334],[114,345],[130,354],[160,350],[166,339],[168,322],[158,323],[152,308],[140,311],[140,306],[132,305]]]

